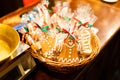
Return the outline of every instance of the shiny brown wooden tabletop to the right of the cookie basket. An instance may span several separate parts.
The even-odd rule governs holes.
[[[98,37],[103,48],[112,36],[120,29],[120,1],[117,3],[104,3],[101,0],[76,0],[72,7],[79,3],[89,3],[97,20],[94,24],[99,29]]]

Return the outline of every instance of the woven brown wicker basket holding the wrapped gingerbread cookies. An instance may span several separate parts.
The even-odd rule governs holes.
[[[91,45],[93,50],[91,55],[79,63],[56,62],[56,61],[47,59],[36,53],[32,53],[32,56],[34,58],[37,58],[41,63],[43,63],[51,71],[55,71],[59,73],[70,73],[84,67],[99,54],[99,50],[100,50],[99,38],[97,37],[96,34],[93,34],[93,33],[91,33]]]

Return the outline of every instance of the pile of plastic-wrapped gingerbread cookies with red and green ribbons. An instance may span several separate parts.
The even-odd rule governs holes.
[[[90,5],[80,5],[73,12],[68,2],[56,2],[52,10],[43,0],[33,10],[22,15],[26,26],[18,31],[34,53],[62,63],[79,63],[91,55],[91,34],[98,29]],[[52,11],[52,13],[50,12]]]

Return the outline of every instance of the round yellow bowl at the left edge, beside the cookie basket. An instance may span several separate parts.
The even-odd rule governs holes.
[[[18,48],[19,34],[12,27],[0,24],[0,62],[8,59]]]

